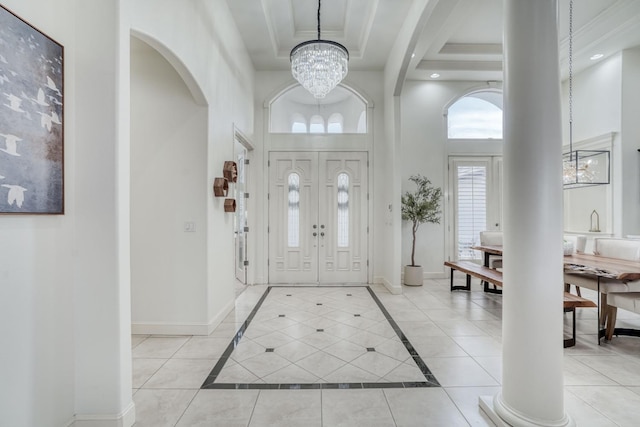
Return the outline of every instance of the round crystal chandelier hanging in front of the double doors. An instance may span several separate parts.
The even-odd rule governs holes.
[[[349,51],[340,43],[320,39],[320,0],[318,0],[318,39],[291,49],[291,73],[316,98],[324,98],[349,71]]]

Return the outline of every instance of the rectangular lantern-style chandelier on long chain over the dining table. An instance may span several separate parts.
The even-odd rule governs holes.
[[[565,189],[609,184],[609,151],[573,150],[573,0],[569,1],[569,152],[562,155]]]

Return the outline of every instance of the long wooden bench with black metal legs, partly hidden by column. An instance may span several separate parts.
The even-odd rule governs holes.
[[[488,283],[492,283],[496,286],[502,287],[502,272],[494,270],[489,267],[485,267],[480,264],[476,264],[472,261],[445,261],[444,265],[451,268],[451,290],[471,290],[471,276],[477,277],[484,281],[485,291],[487,290]],[[467,275],[466,286],[454,286],[453,285],[453,271],[458,270]],[[564,339],[564,347],[572,347],[576,345],[576,308],[578,307],[597,307],[596,303],[586,298],[582,298],[579,295],[564,293],[564,311],[571,312],[573,315],[573,326],[571,338]]]

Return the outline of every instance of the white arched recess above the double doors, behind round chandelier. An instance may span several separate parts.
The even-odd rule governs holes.
[[[308,131],[311,132],[311,118],[318,115],[325,123],[326,133],[326,124],[335,114],[343,118],[341,133],[366,133],[367,127],[361,125],[361,117],[364,113],[367,121],[371,120],[369,113],[373,108],[373,100],[347,83],[338,85],[327,98],[316,100],[298,83],[289,82],[273,91],[264,102],[264,107],[268,112],[270,133],[292,133],[292,126],[300,121],[300,117],[305,118]]]

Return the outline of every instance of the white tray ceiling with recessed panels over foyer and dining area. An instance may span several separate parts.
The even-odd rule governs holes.
[[[322,0],[322,38],[343,44],[352,70],[382,70],[414,1]],[[535,1],[535,0],[533,0]],[[409,79],[502,80],[503,0],[430,0],[415,29]],[[289,52],[317,37],[317,0],[227,0],[257,70],[289,69]],[[559,0],[561,67],[568,69],[569,0]],[[640,45],[640,0],[574,0],[574,70]],[[410,55],[412,52],[408,52]]]

